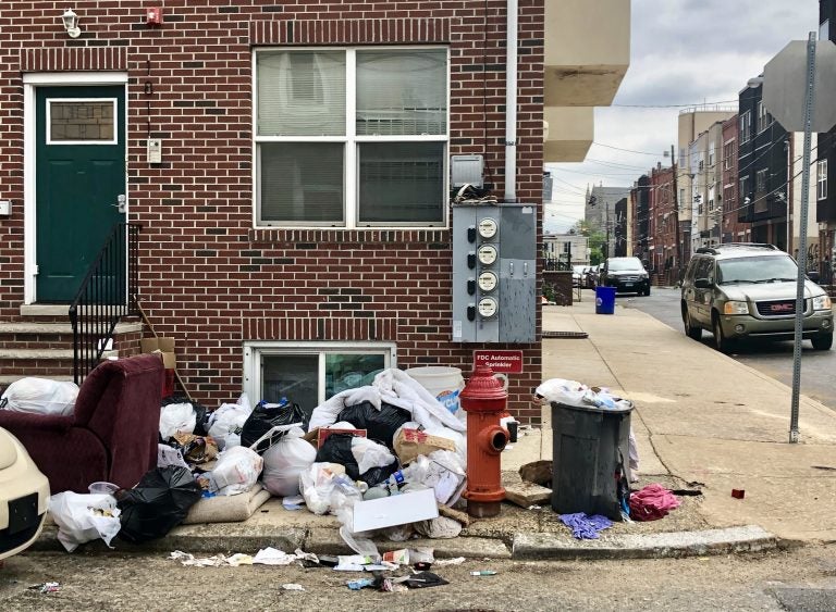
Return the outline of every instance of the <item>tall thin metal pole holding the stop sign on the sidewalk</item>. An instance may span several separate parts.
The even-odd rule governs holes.
[[[804,90],[804,143],[801,163],[801,214],[799,232],[798,278],[796,279],[796,337],[792,347],[792,404],[789,416],[789,442],[798,442],[798,400],[801,389],[801,340],[804,320],[804,277],[807,275],[807,200],[810,195],[810,139],[815,108],[815,33],[807,39],[807,88]],[[789,203],[787,203],[789,205]]]

